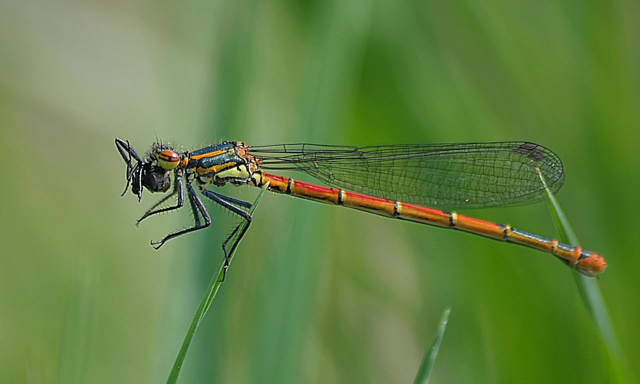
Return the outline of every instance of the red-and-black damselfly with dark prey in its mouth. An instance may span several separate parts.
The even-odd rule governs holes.
[[[604,258],[556,239],[422,205],[445,207],[504,207],[529,204],[555,193],[564,182],[563,166],[554,152],[527,142],[401,144],[372,147],[333,145],[271,145],[249,147],[241,141],[223,141],[193,152],[176,152],[170,145],[154,143],[144,158],[116,139],[116,147],[127,163],[127,187],[142,198],[142,189],[173,191],[138,220],[179,209],[186,186],[193,211],[193,227],[177,230],[160,241],[156,249],[174,237],[208,227],[211,217],[193,188],[239,215],[247,224],[252,216],[243,208],[251,204],[207,189],[209,184],[262,187],[317,202],[344,205],[401,220],[453,228],[549,252],[584,275],[596,276],[607,266]],[[266,173],[264,170],[302,171],[330,187],[308,184]],[[177,196],[177,204],[161,207]],[[249,225],[238,225],[223,241],[225,271],[233,252]],[[240,232],[240,233],[238,233]],[[230,248],[227,245],[234,238]],[[224,275],[223,275],[224,276]],[[223,277],[224,279],[224,277]]]

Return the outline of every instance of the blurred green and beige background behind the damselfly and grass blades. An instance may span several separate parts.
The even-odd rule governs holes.
[[[237,219],[153,250],[188,209],[136,228],[158,196],[120,197],[113,141],[156,134],[552,148],[640,377],[637,1],[2,1],[0,382],[166,380]],[[545,204],[460,212],[556,236]],[[411,383],[447,305],[432,383],[611,381],[554,257],[268,193],[180,383]]]

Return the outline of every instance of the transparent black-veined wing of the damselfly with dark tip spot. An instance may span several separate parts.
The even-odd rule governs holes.
[[[330,186],[420,205],[529,204],[564,182],[559,157],[527,142],[292,144],[252,147],[250,154],[266,170],[298,170]]]

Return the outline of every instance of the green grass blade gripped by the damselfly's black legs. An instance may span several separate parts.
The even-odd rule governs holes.
[[[262,198],[262,195],[264,195],[264,191],[267,190],[268,186],[269,186],[269,183],[265,184],[265,186],[262,187],[262,190],[258,194],[257,198],[255,198],[255,202],[253,202],[251,209],[249,209],[249,214],[253,215],[253,211],[255,211],[255,208],[258,206],[258,203],[260,202],[260,199]],[[243,227],[240,228],[238,233],[242,232],[242,230],[244,230],[246,225],[247,223],[245,221],[243,223]],[[231,264],[231,261],[233,260],[237,249],[238,247],[236,246],[236,249],[234,250],[234,252],[232,252],[229,255],[229,265]],[[196,333],[196,330],[198,329],[200,322],[202,322],[202,319],[204,319],[204,316],[207,313],[207,310],[209,309],[209,307],[211,307],[211,303],[213,302],[213,299],[216,297],[218,288],[220,288],[220,280],[222,278],[222,273],[223,273],[222,269],[224,265],[225,265],[225,260],[222,259],[220,262],[220,265],[218,266],[218,269],[216,269],[216,273],[214,273],[213,277],[211,278],[211,282],[209,282],[209,286],[207,286],[207,291],[205,291],[204,296],[202,296],[202,300],[200,300],[200,305],[198,305],[198,309],[196,310],[196,313],[193,316],[193,320],[191,320],[191,326],[189,326],[189,330],[186,336],[184,337],[184,341],[182,342],[182,347],[180,348],[180,352],[178,353],[178,356],[175,358],[175,362],[173,363],[173,368],[171,370],[171,373],[169,374],[169,378],[166,380],[167,384],[175,384],[178,381],[178,377],[180,376],[180,371],[182,370],[182,365],[184,365],[184,358],[186,358],[187,356],[187,351],[191,346],[191,342],[193,342],[193,337]],[[227,271],[228,271],[228,268],[227,268]]]

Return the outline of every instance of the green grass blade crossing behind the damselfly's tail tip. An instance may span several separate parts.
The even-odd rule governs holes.
[[[544,182],[544,180],[543,180]],[[547,191],[547,202],[551,216],[556,225],[561,243],[570,244],[572,246],[579,246],[578,238],[573,232],[569,220],[564,215],[560,204],[556,200],[549,189]],[[600,339],[602,340],[607,357],[609,358],[609,364],[611,364],[612,376],[616,383],[636,383],[632,374],[627,368],[625,358],[620,349],[620,343],[616,338],[616,334],[613,330],[613,324],[611,324],[611,317],[609,317],[609,311],[602,296],[600,285],[598,280],[593,277],[582,275],[577,270],[573,269],[573,279],[578,287],[580,296],[584,305],[586,305],[593,323],[595,323]]]

